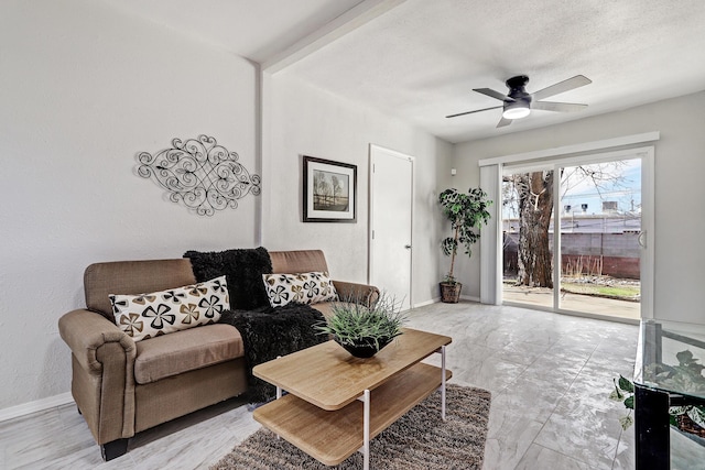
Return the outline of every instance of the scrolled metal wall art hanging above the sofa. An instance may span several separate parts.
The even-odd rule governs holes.
[[[174,139],[172,145],[154,155],[138,154],[137,173],[153,178],[173,203],[181,201],[199,216],[213,216],[216,210],[237,209],[238,199],[262,192],[261,177],[250,174],[238,154],[218,145],[215,138]]]

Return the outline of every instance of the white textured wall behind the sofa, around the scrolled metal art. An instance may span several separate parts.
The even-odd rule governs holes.
[[[256,243],[259,200],[198,217],[133,174],[200,133],[253,170],[256,67],[90,0],[0,8],[0,409],[69,390],[61,315],[98,261]]]

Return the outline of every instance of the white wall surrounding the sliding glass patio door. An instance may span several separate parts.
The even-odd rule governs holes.
[[[456,145],[465,186],[479,184],[478,160],[660,131],[655,143],[654,316],[705,323],[705,91],[561,125]],[[688,215],[688,217],[684,217]],[[463,260],[462,277],[479,293],[479,256]]]

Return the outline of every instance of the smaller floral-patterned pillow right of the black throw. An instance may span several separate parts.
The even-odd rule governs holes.
[[[338,298],[335,286],[325,272],[264,274],[262,281],[272,307],[281,307],[290,302],[317,304]]]

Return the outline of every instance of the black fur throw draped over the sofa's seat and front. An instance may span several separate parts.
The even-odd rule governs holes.
[[[250,403],[268,402],[276,395],[276,387],[252,375],[252,368],[327,341],[327,335],[317,335],[313,328],[324,321],[321,311],[302,304],[223,313],[219,323],[232,325],[242,336],[248,373],[246,397]]]

